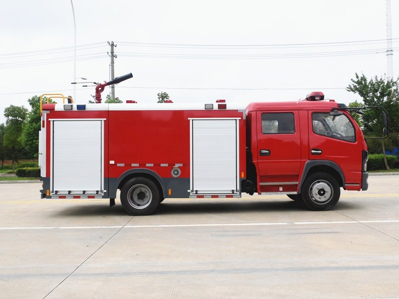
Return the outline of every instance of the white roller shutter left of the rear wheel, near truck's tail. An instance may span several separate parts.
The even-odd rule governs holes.
[[[52,185],[58,194],[103,190],[101,120],[53,121]]]

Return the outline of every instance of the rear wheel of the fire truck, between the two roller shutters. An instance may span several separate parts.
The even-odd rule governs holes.
[[[149,215],[158,207],[159,202],[159,189],[149,178],[132,178],[121,189],[122,206],[130,215]]]

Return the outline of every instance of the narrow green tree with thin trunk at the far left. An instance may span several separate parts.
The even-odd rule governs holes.
[[[22,135],[22,124],[26,119],[27,109],[10,105],[4,109],[5,129],[3,136],[4,146],[11,149],[12,170],[15,170],[15,157],[17,149],[22,148],[20,137]]]

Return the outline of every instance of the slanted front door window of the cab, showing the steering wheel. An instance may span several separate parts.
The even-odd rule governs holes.
[[[329,113],[312,114],[313,132],[318,135],[356,142],[355,129],[346,115],[332,116]]]

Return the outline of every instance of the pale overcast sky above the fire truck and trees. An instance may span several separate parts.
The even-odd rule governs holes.
[[[154,103],[296,101],[312,91],[348,104],[355,73],[387,73],[385,0],[73,0],[76,77],[133,78],[121,100]],[[391,0],[394,78],[399,71],[399,0]],[[43,93],[73,95],[71,0],[0,0],[0,123],[9,105]],[[85,80],[77,79],[77,82]],[[76,86],[85,104],[94,86]],[[93,84],[91,84],[93,85]],[[109,93],[107,87],[103,99]]]

